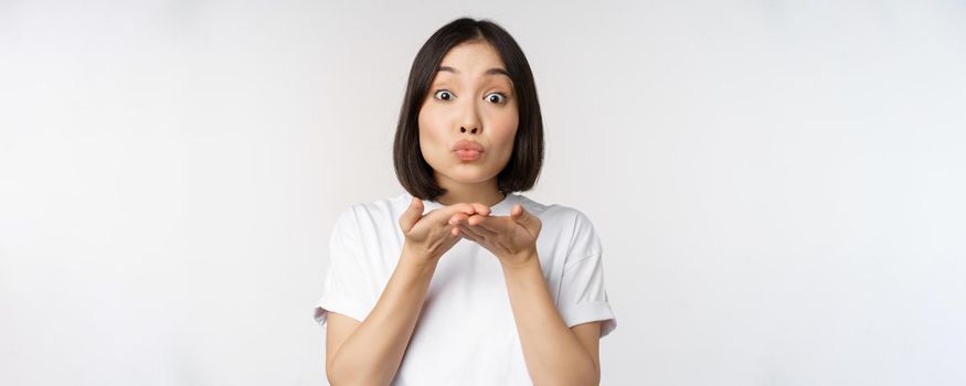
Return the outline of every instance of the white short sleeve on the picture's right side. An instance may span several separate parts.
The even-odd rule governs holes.
[[[558,309],[567,328],[601,321],[601,337],[617,328],[604,286],[604,258],[593,224],[578,214],[564,262]]]

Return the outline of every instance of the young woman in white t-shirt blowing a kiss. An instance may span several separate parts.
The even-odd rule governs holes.
[[[394,142],[405,193],[337,219],[316,320],[333,385],[596,385],[616,328],[590,219],[518,194],[543,162],[530,65],[463,18],[413,62]]]

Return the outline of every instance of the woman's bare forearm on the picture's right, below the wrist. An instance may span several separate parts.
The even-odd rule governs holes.
[[[597,385],[599,323],[569,329],[553,304],[537,253],[503,265],[513,319],[534,385]]]

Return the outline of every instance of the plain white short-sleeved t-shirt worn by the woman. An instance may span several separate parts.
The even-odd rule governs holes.
[[[365,320],[402,253],[399,218],[412,195],[360,203],[342,212],[329,240],[329,269],[315,309]],[[425,212],[442,207],[423,201]],[[603,321],[601,336],[617,326],[604,289],[601,242],[580,211],[508,194],[491,207],[507,216],[521,204],[542,222],[537,250],[550,293],[567,326]],[[413,336],[393,385],[532,385],[502,268],[469,239],[440,257]]]

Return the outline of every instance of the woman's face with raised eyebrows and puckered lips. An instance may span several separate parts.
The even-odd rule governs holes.
[[[496,179],[513,152],[520,118],[513,82],[482,41],[454,46],[420,109],[420,149],[442,186]]]

